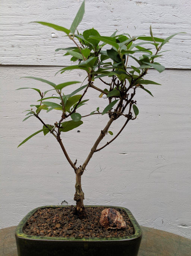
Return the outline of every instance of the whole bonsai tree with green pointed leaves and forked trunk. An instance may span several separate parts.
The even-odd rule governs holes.
[[[28,112],[26,114],[27,117],[23,121],[34,116],[41,122],[42,129],[33,133],[19,144],[21,146],[40,132],[43,132],[44,135],[51,133],[55,137],[76,175],[74,200],[76,201],[76,212],[81,216],[85,214],[84,192],[81,186],[81,176],[85,168],[94,153],[107,147],[119,136],[130,120],[136,119],[139,113],[135,99],[137,89],[142,89],[153,96],[145,87],[147,84],[159,84],[145,80],[144,76],[149,68],[154,68],[158,72],[165,70],[165,67],[156,62],[156,59],[162,56],[161,49],[165,43],[176,35],[173,34],[166,39],[157,38],[153,36],[151,27],[150,36],[131,37],[129,34],[118,33],[118,31],[111,33],[110,36],[102,36],[94,28],[80,33],[77,27],[83,18],[84,12],[85,3],[83,1],[70,29],[48,22],[37,21],[39,24],[63,31],[73,42],[72,47],[56,49],[56,51],[66,51],[65,55],[71,55],[71,61],[75,63],[74,65],[63,67],[59,72],[64,74],[67,70],[81,69],[87,74],[87,78],[84,81],[85,85],[82,85],[80,81],[64,81],[61,84],[54,84],[46,79],[26,76],[26,78],[45,82],[52,88],[44,92],[37,88],[31,88],[40,94],[40,99],[37,99],[36,105],[30,105],[31,109],[26,110]],[[137,55],[139,55],[139,58]],[[131,60],[137,63],[134,64],[136,66],[131,64]],[[79,88],[72,91],[71,85],[76,83],[79,83]],[[71,93],[67,95],[65,94],[66,86],[71,86]],[[80,107],[87,104],[89,100],[85,97],[89,88],[96,90],[99,97],[104,96],[107,98],[108,105],[103,111],[100,111],[100,108],[95,106],[93,112],[83,115]],[[48,91],[54,91],[56,96],[47,97]],[[82,91],[81,94],[79,94],[80,91]],[[47,124],[46,121],[41,119],[41,111],[48,113],[53,109],[60,112],[60,120],[54,120],[53,124]],[[83,118],[91,115],[104,115],[105,118],[108,118],[108,122],[105,127],[100,127],[100,134],[91,147],[84,163],[77,166],[77,160],[72,160],[65,149],[65,145],[62,142],[62,134],[83,125]],[[113,135],[109,128],[113,122],[122,116],[126,118],[126,121],[119,132]],[[99,147],[101,140],[106,135],[113,135],[113,138],[102,147]]]

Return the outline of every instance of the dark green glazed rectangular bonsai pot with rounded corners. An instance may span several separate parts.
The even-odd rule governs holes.
[[[43,206],[30,211],[16,228],[16,245],[19,256],[135,256],[141,243],[141,228],[132,213],[123,207],[101,206],[105,208],[119,208],[126,212],[132,226],[134,235],[115,238],[69,238],[45,237],[26,235],[23,229],[27,220],[38,210],[43,208],[62,208],[68,206]],[[99,207],[99,206],[85,206]]]

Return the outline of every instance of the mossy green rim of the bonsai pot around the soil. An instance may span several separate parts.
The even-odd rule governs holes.
[[[44,208],[63,208],[63,207],[69,207],[70,205],[46,205],[46,206],[41,206],[41,207],[37,207],[35,209],[33,209],[32,211],[30,211],[28,214],[26,214],[26,216],[21,220],[21,222],[19,223],[19,225],[16,228],[15,231],[15,236],[18,238],[24,238],[24,239],[29,239],[29,240],[43,240],[43,241],[48,241],[48,240],[56,240],[56,241],[92,241],[92,242],[96,242],[96,241],[129,241],[129,240],[134,240],[137,238],[141,238],[142,237],[142,231],[140,228],[140,225],[137,223],[137,220],[135,220],[135,217],[133,216],[133,214],[131,213],[131,211],[129,211],[127,208],[125,207],[119,207],[119,206],[109,206],[109,205],[84,205],[85,208],[87,207],[106,207],[106,208],[118,208],[118,209],[122,209],[123,211],[126,212],[126,214],[128,215],[132,226],[134,228],[135,234],[134,235],[129,235],[129,236],[125,236],[125,237],[111,237],[111,238],[104,238],[104,237],[88,237],[88,238],[76,238],[76,237],[45,237],[45,236],[34,236],[34,235],[26,235],[23,232],[23,228],[27,222],[27,220],[38,210],[38,209],[44,209]]]

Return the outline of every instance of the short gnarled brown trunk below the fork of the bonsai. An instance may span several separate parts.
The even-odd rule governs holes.
[[[75,173],[76,173],[76,184],[75,184],[75,189],[76,193],[74,195],[74,200],[76,201],[76,213],[80,217],[85,216],[85,210],[84,210],[84,192],[82,191],[82,186],[81,186],[81,176],[83,174],[83,170],[81,168],[78,168]]]

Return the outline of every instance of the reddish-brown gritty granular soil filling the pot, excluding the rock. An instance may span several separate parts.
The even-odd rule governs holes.
[[[125,237],[134,234],[133,226],[125,211],[114,208],[123,216],[126,229],[105,229],[99,220],[105,207],[85,208],[86,217],[79,219],[74,207],[44,208],[37,210],[27,221],[24,234],[45,237]]]

